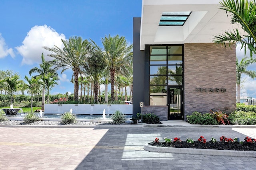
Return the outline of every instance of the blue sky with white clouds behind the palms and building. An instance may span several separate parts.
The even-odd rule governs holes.
[[[118,34],[132,44],[133,17],[141,16],[141,6],[142,0],[1,0],[0,70],[18,72],[24,80],[41,63],[42,52],[49,53],[42,46],[61,47],[60,40],[71,36],[92,39],[102,47],[102,37]],[[237,56],[244,56],[239,47]],[[256,70],[256,64],[248,70]],[[72,71],[59,76],[51,94],[73,92]],[[256,80],[242,79],[241,96],[245,92],[256,98]]]

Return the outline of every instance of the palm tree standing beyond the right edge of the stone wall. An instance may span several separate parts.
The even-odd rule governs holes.
[[[247,57],[244,57],[239,63],[236,57],[237,102],[240,102],[240,83],[242,74],[245,74],[252,79],[256,78],[256,71],[246,70],[246,68],[252,63],[256,63],[256,59],[248,59]]]

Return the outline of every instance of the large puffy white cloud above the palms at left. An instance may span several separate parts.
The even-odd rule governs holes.
[[[36,25],[30,29],[27,36],[19,47],[15,47],[22,55],[22,64],[41,63],[41,54],[44,52],[46,60],[49,51],[42,49],[43,46],[53,47],[54,45],[62,48],[61,39],[66,39],[64,34],[57,33],[54,29],[47,25]]]

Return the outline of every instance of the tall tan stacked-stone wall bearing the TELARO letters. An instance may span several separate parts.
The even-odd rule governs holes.
[[[206,88],[201,92],[196,88]],[[210,88],[214,92],[210,92]],[[216,92],[225,88],[226,92]],[[236,109],[236,47],[214,43],[184,44],[184,114],[210,109],[230,113]]]

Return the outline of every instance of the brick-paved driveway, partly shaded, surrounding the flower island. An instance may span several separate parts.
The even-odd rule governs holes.
[[[169,125],[170,123],[168,123]],[[164,124],[163,124],[164,125]],[[134,125],[135,126],[135,125]],[[146,143],[164,137],[207,141],[256,138],[254,128],[212,127],[0,127],[0,169],[112,170],[112,169],[255,169],[256,158],[148,152]]]

